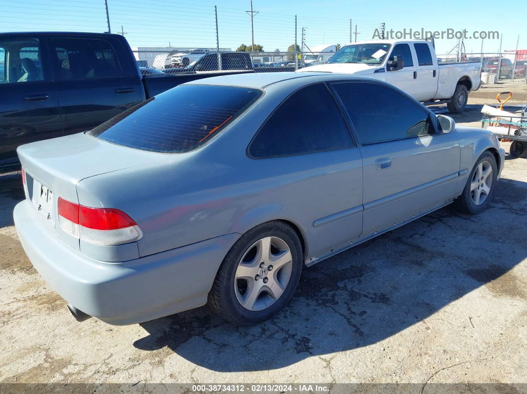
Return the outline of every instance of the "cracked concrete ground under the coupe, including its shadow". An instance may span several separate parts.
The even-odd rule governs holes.
[[[527,383],[527,159],[506,157],[484,213],[446,207],[305,268],[282,312],[243,328],[208,307],[77,323],[19,244],[22,198],[19,175],[0,178],[2,383]]]

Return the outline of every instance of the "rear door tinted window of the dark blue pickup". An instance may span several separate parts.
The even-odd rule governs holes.
[[[54,38],[62,79],[103,78],[121,75],[109,42],[102,39]]]

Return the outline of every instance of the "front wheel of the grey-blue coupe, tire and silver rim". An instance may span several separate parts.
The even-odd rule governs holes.
[[[486,150],[472,168],[463,193],[454,201],[457,210],[469,215],[479,214],[489,206],[496,181],[496,159],[490,151]]]

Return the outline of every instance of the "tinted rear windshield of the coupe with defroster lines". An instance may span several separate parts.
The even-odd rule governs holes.
[[[160,153],[184,153],[216,136],[261,90],[180,85],[87,132],[114,144]]]

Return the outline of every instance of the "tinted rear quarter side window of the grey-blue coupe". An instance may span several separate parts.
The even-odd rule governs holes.
[[[352,147],[335,100],[324,84],[304,87],[285,100],[253,138],[255,158],[302,155]]]

